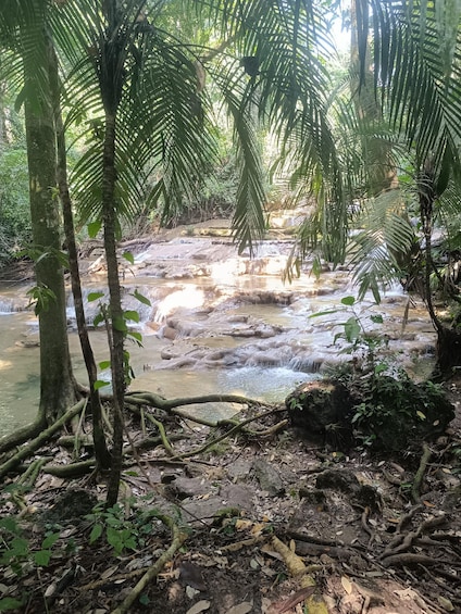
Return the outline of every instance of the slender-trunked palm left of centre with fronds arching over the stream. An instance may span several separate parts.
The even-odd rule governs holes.
[[[195,9],[199,4],[192,3]],[[129,368],[125,339],[129,335],[136,339],[122,306],[116,252],[120,217],[134,215],[135,198],[144,196],[152,177],[149,198],[167,217],[209,168],[214,146],[204,72],[235,126],[241,174],[234,228],[241,248],[252,249],[265,222],[256,118],[275,127],[285,149],[290,139],[300,137],[303,147],[298,164],[322,170],[327,189],[340,197],[334,140],[324,113],[327,75],[320,49],[327,40],[319,36],[322,29],[312,7],[310,12],[298,2],[271,8],[262,1],[203,3],[201,9],[213,18],[215,30],[221,28],[224,42],[217,49],[180,40],[177,28],[172,33],[171,7],[171,2],[157,2],[152,8],[144,0],[124,5],[109,0],[97,8],[82,1],[59,7],[55,13],[61,23],[73,24],[72,53],[67,54],[73,70],[67,87],[76,101],[74,113],[91,114],[92,142],[74,175],[79,211],[102,223],[108,263],[105,314],[114,391],[108,504],[116,501],[119,490]],[[198,15],[202,18],[204,13]],[[338,220],[338,215],[325,217],[325,228],[332,234],[341,231]],[[331,255],[337,255],[336,245],[331,242]]]

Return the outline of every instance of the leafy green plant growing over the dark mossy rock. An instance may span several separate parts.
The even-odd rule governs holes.
[[[339,353],[352,360],[336,367],[333,377],[346,386],[354,400],[352,426],[354,438],[364,446],[387,451],[406,449],[412,439],[432,437],[452,419],[452,405],[444,390],[433,381],[414,383],[401,368],[397,368],[387,353],[388,339],[384,333],[370,333],[364,321],[383,324],[381,314],[361,316],[353,297],[341,300],[342,308],[323,312],[352,311],[339,323],[342,331],[335,335],[348,346]]]

